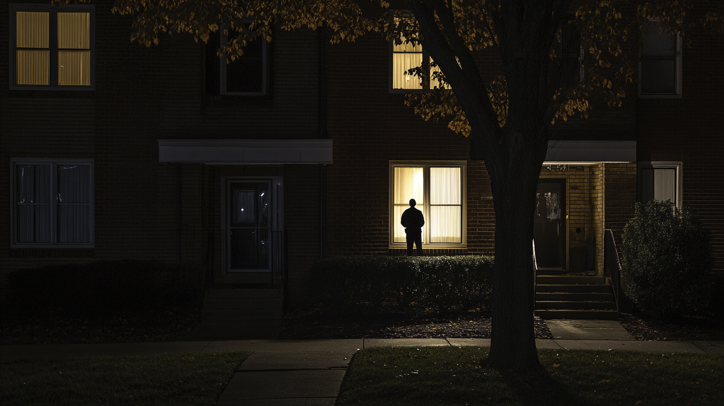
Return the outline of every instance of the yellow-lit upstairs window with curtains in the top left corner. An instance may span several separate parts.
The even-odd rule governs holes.
[[[10,5],[10,88],[93,90],[95,7]]]

